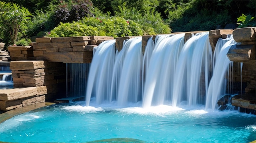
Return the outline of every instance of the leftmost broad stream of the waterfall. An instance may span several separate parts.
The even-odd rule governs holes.
[[[92,59],[87,91],[86,105],[90,104],[90,98],[96,97],[97,104],[110,101],[110,89],[112,72],[116,58],[115,40],[102,42],[94,52]]]

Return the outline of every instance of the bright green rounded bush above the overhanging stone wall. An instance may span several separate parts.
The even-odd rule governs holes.
[[[62,23],[55,27],[49,37],[69,36],[139,36],[143,32],[140,26],[132,20],[119,17],[83,18],[79,22]]]

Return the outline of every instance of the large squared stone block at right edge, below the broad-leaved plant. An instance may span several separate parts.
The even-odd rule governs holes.
[[[255,42],[256,27],[237,28],[233,31],[236,42]]]

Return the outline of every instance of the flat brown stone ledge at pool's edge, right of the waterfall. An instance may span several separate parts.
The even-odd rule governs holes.
[[[231,99],[231,104],[237,107],[256,110],[255,93],[252,94],[238,94]]]

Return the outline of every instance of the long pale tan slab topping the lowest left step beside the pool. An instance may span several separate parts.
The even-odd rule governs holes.
[[[26,87],[26,88],[15,88],[2,90],[0,93],[1,100],[15,100],[20,98],[26,98],[29,96],[37,95],[36,87]]]

